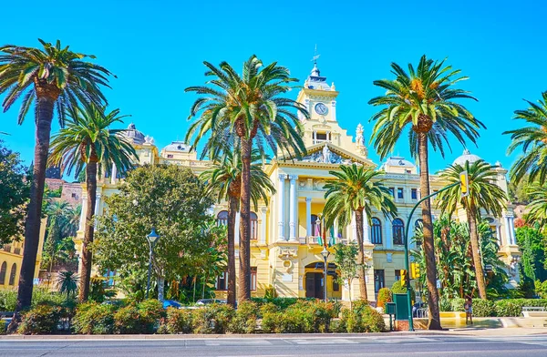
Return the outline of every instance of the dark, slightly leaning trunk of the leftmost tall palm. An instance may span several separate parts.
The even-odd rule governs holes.
[[[49,137],[51,134],[51,120],[53,107],[57,97],[41,97],[36,100],[36,129],[35,129],[35,156],[33,177],[30,187],[30,201],[26,211],[25,221],[25,247],[15,316],[9,331],[15,331],[20,321],[19,311],[30,308],[34,274],[36,270],[36,255],[40,243],[40,223],[42,217],[42,199],[44,198],[44,185],[46,182],[46,161],[49,151]]]

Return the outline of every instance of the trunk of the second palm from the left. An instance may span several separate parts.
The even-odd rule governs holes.
[[[93,254],[91,243],[95,233],[95,203],[97,199],[97,162],[88,162],[86,166],[86,186],[88,192],[88,207],[86,208],[86,223],[84,226],[84,241],[82,243],[82,272],[80,275],[79,301],[88,300],[89,281],[91,280],[91,264]]]

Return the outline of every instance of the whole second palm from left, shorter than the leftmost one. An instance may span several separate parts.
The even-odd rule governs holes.
[[[88,300],[89,294],[92,262],[89,245],[93,242],[94,234],[98,166],[102,167],[103,172],[109,173],[114,165],[123,173],[133,167],[137,158],[129,140],[121,135],[125,130],[110,128],[112,124],[121,123],[123,117],[119,115],[119,109],[105,113],[103,107],[75,108],[67,117],[66,127],[51,140],[49,165],[61,167],[62,173],[67,172],[67,175],[74,169],[75,177],[86,169],[88,204],[82,244],[80,301]]]

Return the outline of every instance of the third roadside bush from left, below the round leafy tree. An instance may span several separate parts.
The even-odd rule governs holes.
[[[154,333],[160,318],[165,315],[163,304],[158,300],[145,300],[120,308],[114,314],[116,333]]]

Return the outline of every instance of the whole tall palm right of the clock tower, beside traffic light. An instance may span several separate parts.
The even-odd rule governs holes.
[[[459,70],[445,66],[443,61],[433,61],[422,56],[418,68],[408,65],[408,73],[396,63],[391,64],[394,80],[377,80],[374,85],[386,89],[385,95],[372,98],[368,103],[382,107],[371,120],[375,121],[371,142],[380,158],[393,151],[401,135],[408,128],[410,153],[418,158],[420,190],[422,197],[429,195],[428,145],[439,149],[444,156],[444,145],[449,146],[449,134],[460,143],[466,138],[475,142],[478,129],[484,125],[455,99],[470,98],[469,92],[453,86],[465,76]],[[427,258],[428,280],[428,329],[439,330],[439,291],[437,291],[437,268],[431,224],[431,203],[422,202],[424,250]]]

